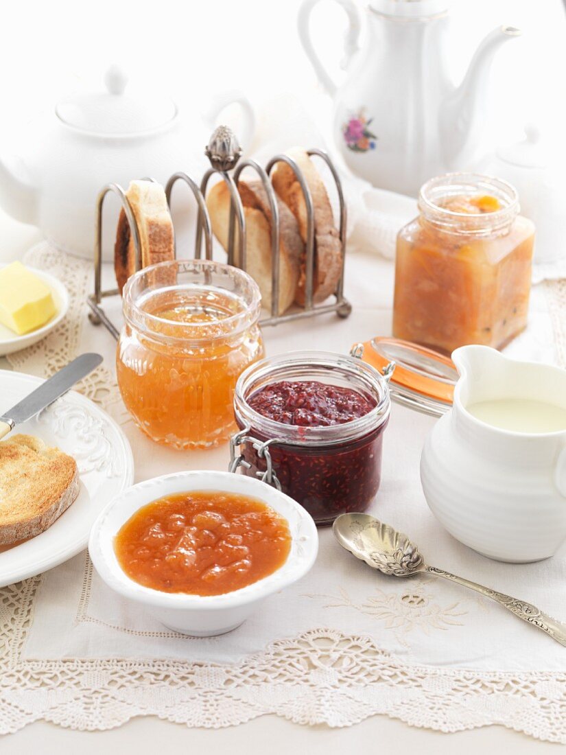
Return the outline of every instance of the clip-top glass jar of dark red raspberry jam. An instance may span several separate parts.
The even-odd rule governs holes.
[[[318,525],[364,511],[380,486],[389,406],[386,377],[355,357],[262,359],[236,384],[231,470],[272,482]]]

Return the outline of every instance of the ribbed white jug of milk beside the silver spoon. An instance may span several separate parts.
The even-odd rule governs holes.
[[[426,501],[454,538],[484,556],[548,558],[566,538],[566,424],[516,432],[481,421],[469,408],[526,400],[566,417],[566,370],[485,346],[461,347],[452,359],[460,373],[454,405],[427,436],[420,463]]]

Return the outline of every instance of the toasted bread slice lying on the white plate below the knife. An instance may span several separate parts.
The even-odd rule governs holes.
[[[78,496],[75,460],[31,435],[0,443],[0,545],[51,527]]]

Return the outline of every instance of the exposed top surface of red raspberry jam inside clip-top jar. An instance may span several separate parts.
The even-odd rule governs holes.
[[[281,381],[256,391],[248,404],[263,417],[298,427],[328,427],[368,414],[377,401],[357,390],[318,381]]]

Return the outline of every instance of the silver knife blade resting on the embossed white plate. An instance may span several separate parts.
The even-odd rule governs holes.
[[[20,422],[35,417],[39,411],[52,404],[75,383],[82,380],[102,362],[100,354],[81,354],[57,371],[49,380],[32,390],[25,399],[0,415],[0,439],[8,435]]]

